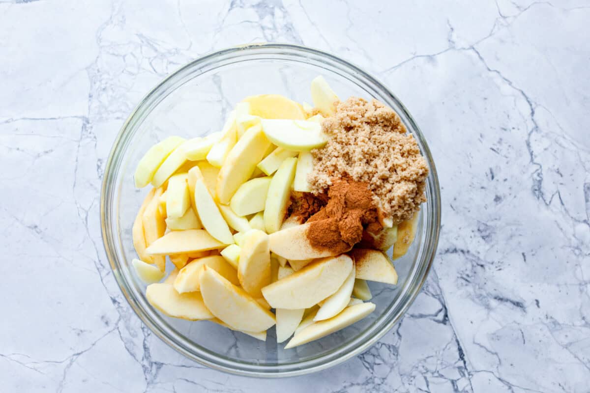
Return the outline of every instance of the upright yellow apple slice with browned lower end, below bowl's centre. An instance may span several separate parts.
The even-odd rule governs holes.
[[[254,298],[260,298],[263,286],[270,284],[270,251],[268,235],[261,230],[252,229],[244,234],[240,250],[238,279],[242,288]]]

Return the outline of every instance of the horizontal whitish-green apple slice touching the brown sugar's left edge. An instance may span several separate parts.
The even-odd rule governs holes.
[[[322,126],[315,121],[262,119],[260,124],[267,138],[286,150],[310,151],[327,143]]]

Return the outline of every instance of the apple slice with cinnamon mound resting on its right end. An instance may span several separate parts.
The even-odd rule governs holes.
[[[252,225],[251,222],[250,225]],[[311,245],[306,235],[309,226],[310,223],[306,223],[271,233],[268,237],[270,250],[287,260],[335,256],[335,250],[316,249]]]

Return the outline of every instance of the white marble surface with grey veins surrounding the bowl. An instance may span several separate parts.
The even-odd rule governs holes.
[[[0,391],[588,392],[588,37],[577,0],[0,0]],[[140,97],[201,54],[261,41],[384,81],[442,185],[438,256],[408,315],[365,354],[281,380],[162,344],[99,229],[104,162]]]

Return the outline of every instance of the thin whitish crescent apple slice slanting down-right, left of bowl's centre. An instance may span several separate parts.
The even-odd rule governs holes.
[[[230,227],[225,222],[219,207],[213,200],[213,197],[207,189],[205,180],[198,167],[191,169],[191,174],[195,176],[195,204],[196,212],[199,214],[199,219],[203,227],[209,232],[209,235],[215,237],[227,245],[234,242],[234,237],[231,235]]]

